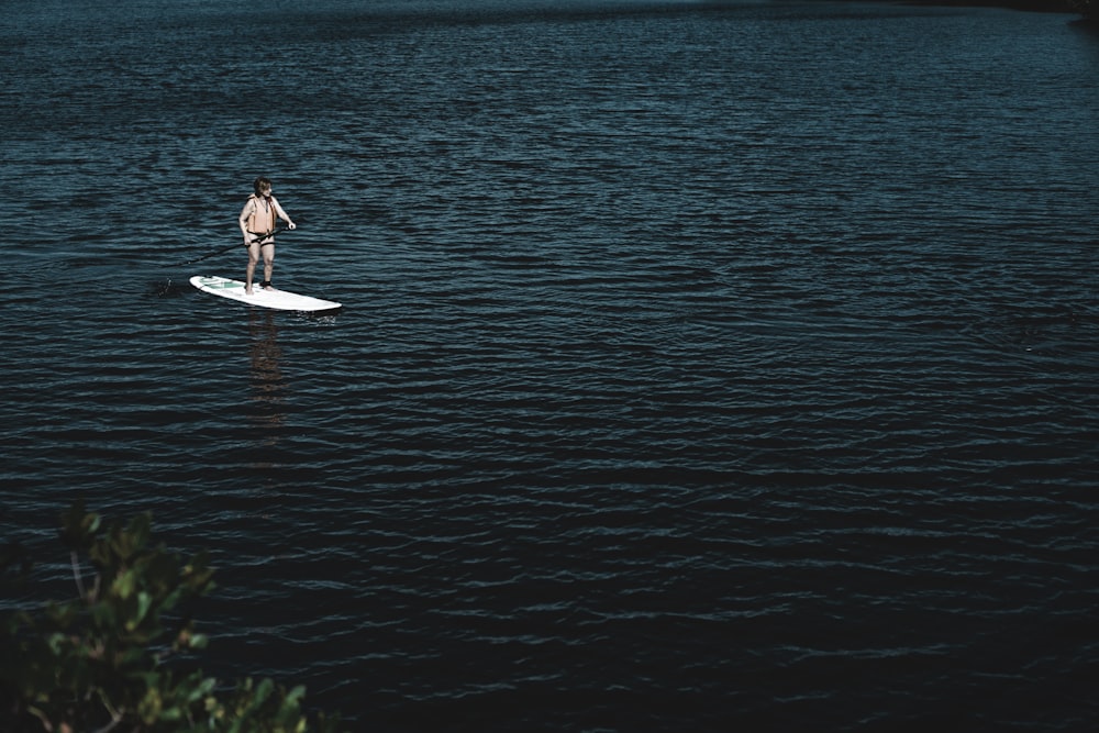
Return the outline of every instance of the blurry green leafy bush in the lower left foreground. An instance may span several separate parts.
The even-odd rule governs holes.
[[[78,596],[0,619],[0,730],[335,733],[336,720],[302,711],[302,687],[224,687],[195,668],[208,640],[185,611],[213,588],[213,570],[206,553],[184,562],[151,538],[147,513],[106,529],[80,503],[62,517]],[[0,548],[0,570],[24,584],[25,553]]]

